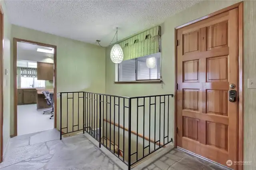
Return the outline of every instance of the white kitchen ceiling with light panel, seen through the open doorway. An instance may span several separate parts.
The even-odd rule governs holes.
[[[53,59],[53,54],[38,52],[37,48],[52,49],[51,47],[44,47],[31,43],[17,42],[17,59],[28,61],[42,61],[47,58]]]

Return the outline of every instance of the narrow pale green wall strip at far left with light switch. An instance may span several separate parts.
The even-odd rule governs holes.
[[[11,24],[6,15],[6,6],[3,0],[0,4],[4,10],[4,55],[3,55],[3,71],[8,69],[10,73],[10,40],[11,40]],[[6,150],[6,144],[10,138],[10,74],[3,75],[3,150]],[[1,149],[1,148],[0,148]]]

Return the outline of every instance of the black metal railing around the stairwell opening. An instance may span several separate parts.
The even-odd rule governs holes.
[[[89,92],[61,92],[60,139],[87,132],[127,166],[172,142],[170,97],[121,97]],[[71,121],[72,120],[72,121]],[[62,127],[65,125],[64,127]],[[128,136],[128,138],[127,138]],[[145,146],[146,145],[146,146]]]

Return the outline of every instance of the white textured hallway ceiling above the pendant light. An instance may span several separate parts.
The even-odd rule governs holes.
[[[200,0],[5,0],[12,24],[108,45],[160,24]],[[116,41],[116,40],[115,40]]]

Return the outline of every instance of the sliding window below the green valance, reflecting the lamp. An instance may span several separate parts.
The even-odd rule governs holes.
[[[118,66],[118,81],[160,79],[160,53],[125,60]]]

